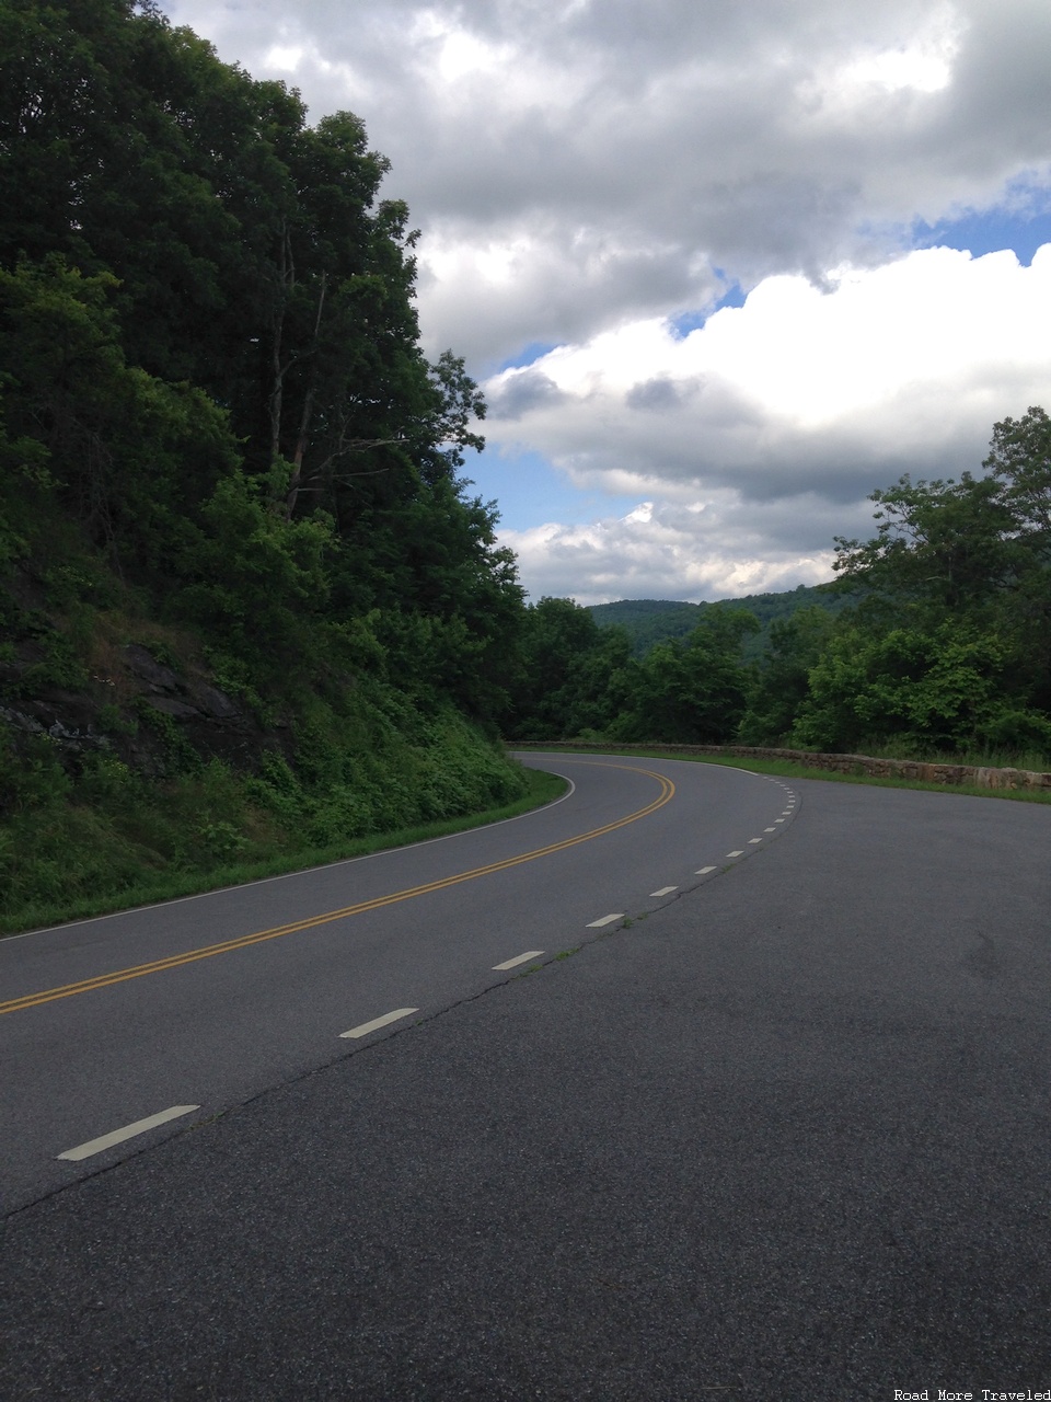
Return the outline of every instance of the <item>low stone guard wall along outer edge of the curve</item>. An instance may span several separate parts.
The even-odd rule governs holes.
[[[516,750],[631,750],[625,744],[591,744],[583,740],[524,740]],[[1051,774],[1033,770],[995,770],[975,764],[935,764],[923,760],[877,760],[870,754],[821,754],[814,750],[772,750],[747,744],[639,744],[642,750],[663,754],[727,754],[755,760],[792,760],[811,770],[832,770],[837,774],[872,774],[873,778],[919,780],[923,784],[947,787],[971,784],[975,788],[1038,789],[1051,794]]]

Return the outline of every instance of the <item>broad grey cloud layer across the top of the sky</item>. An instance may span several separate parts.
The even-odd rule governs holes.
[[[544,289],[486,283],[464,258],[423,292],[427,336],[475,363],[535,339],[541,311],[547,339],[575,339],[702,306],[715,266],[751,285],[879,259],[873,229],[991,200],[1051,158],[1044,0],[174,0],[171,14],[249,70],[283,72],[315,115],[360,111],[425,261],[527,240]]]

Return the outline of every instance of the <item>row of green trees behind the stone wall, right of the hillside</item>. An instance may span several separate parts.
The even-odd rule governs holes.
[[[569,599],[528,610],[523,740],[680,742],[1051,760],[1051,419],[994,428],[984,474],[872,494],[876,534],[838,537],[821,603],[761,620],[709,604],[638,655]],[[831,603],[834,607],[828,607]],[[685,606],[643,620],[681,628]]]

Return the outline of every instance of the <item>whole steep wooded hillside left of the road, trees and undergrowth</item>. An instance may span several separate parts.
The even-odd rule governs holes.
[[[310,126],[132,0],[0,0],[0,77],[8,893],[46,893],[43,827],[87,890],[136,843],[206,864],[252,823],[317,845],[521,794],[495,735],[523,596],[461,475],[485,405],[420,350],[362,122]],[[185,697],[135,693],[139,645],[251,718],[233,770]]]

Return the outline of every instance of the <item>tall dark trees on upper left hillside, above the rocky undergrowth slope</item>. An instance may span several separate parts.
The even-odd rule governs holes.
[[[362,122],[307,126],[128,0],[0,20],[8,534],[60,506],[275,676],[304,613],[377,610],[413,660],[426,617],[457,698],[492,709],[520,593],[457,475],[485,407],[419,349],[415,234]]]

